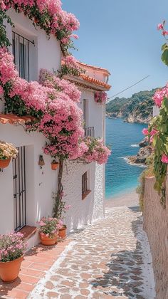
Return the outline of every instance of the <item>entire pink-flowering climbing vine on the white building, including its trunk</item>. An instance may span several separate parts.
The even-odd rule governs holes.
[[[41,132],[48,140],[43,151],[53,159],[59,159],[58,194],[53,208],[53,214],[56,215],[58,201],[62,201],[63,197],[61,181],[64,160],[82,157],[87,162],[103,164],[107,162],[110,150],[103,145],[102,140],[83,140],[83,113],[77,105],[80,91],[73,83],[58,78],[48,70],[41,70],[39,83],[28,83],[19,77],[14,57],[7,48],[10,43],[4,20],[13,26],[6,14],[10,8],[17,13],[23,12],[34,26],[45,30],[48,36],[56,35],[61,42],[63,55],[67,56],[64,58],[66,68],[69,65],[76,72],[71,75],[81,73],[80,68],[76,68],[74,58],[68,55],[68,48],[72,46],[72,31],[78,29],[79,23],[73,14],[61,9],[60,0],[4,0],[0,3],[0,96],[3,96],[6,113],[35,117],[26,125],[26,130]]]

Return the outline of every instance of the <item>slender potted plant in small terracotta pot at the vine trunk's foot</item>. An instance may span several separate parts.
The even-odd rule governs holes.
[[[70,209],[70,205],[66,205],[65,201],[62,200],[63,198],[63,192],[61,194],[53,193],[53,200],[55,201],[55,206],[53,213],[56,216],[58,220],[58,236],[60,238],[66,237],[66,230],[67,227],[65,226],[63,219],[65,216],[63,214],[66,213],[68,209]]]

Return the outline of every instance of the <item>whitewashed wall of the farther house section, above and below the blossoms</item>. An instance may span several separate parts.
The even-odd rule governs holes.
[[[81,90],[79,107],[83,109],[83,99],[88,100],[87,127],[95,128],[95,137],[105,137],[104,107],[95,103],[94,92]],[[88,172],[90,194],[82,200],[82,175]],[[96,163],[78,164],[67,162],[63,171],[63,191],[66,204],[71,208],[65,216],[68,231],[80,229],[96,219],[102,219],[105,211],[105,165]]]

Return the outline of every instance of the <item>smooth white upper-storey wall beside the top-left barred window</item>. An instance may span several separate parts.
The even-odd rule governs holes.
[[[31,20],[24,14],[16,14],[13,9],[9,10],[9,16],[14,22],[15,27],[7,25],[7,36],[11,41],[11,31],[16,31],[22,36],[35,42],[35,46],[30,48],[30,77],[31,80],[38,80],[39,70],[59,70],[61,68],[61,48],[55,36],[48,38],[45,31],[39,27],[35,28]]]

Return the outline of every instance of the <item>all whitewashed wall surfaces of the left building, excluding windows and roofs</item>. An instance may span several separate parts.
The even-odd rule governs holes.
[[[16,33],[20,33],[30,40],[35,41],[35,47],[30,51],[30,78],[38,80],[41,68],[58,70],[61,67],[61,49],[59,42],[51,36],[48,40],[46,33],[39,28],[36,30],[31,21],[23,14],[9,11]],[[7,25],[7,33],[11,40],[11,27]],[[100,80],[105,80],[100,73],[90,73]],[[95,103],[94,92],[83,90],[80,107],[83,107],[83,99],[88,100],[88,124],[87,127],[95,127],[95,137],[105,137],[103,105]],[[3,105],[0,104],[3,112]],[[51,158],[43,154],[45,138],[38,133],[28,134],[21,126],[1,125],[0,140],[13,143],[16,147],[26,146],[26,203],[27,224],[36,225],[41,216],[51,215],[53,201],[51,193],[56,192],[58,170],[51,170]],[[39,154],[43,154],[45,166],[38,166]],[[82,200],[82,175],[88,171],[90,180],[90,194]],[[103,218],[105,208],[105,167],[95,163],[78,164],[68,162],[63,172],[63,189],[66,204],[72,207],[67,212],[65,223],[68,231],[81,228],[95,219]],[[14,190],[12,163],[4,172],[0,172],[0,234],[14,229]]]

